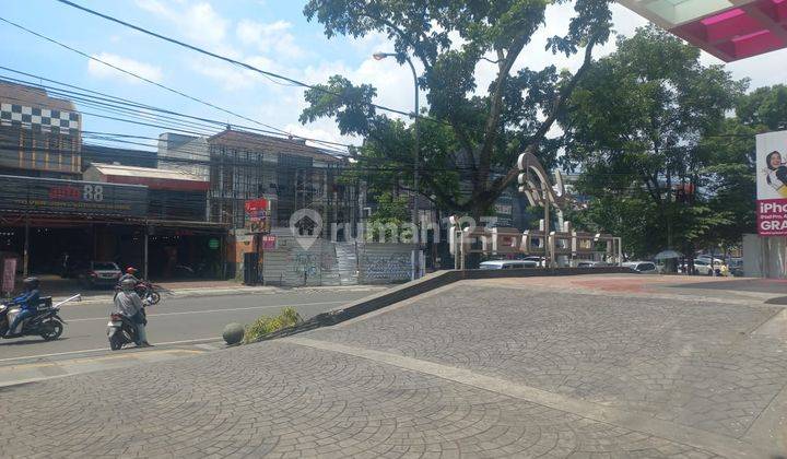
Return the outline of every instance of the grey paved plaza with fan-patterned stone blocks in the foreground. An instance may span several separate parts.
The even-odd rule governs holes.
[[[785,454],[783,307],[643,278],[465,281],[287,339],[0,388],[0,457]]]

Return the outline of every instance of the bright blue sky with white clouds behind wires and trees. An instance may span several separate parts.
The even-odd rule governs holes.
[[[353,83],[377,87],[376,103],[412,110],[410,69],[393,59],[376,61],[375,51],[391,50],[384,35],[360,39],[328,39],[321,25],[303,15],[305,1],[296,0],[77,0],[80,4],[139,24],[163,35],[204,47],[263,70],[306,83],[321,83],[342,74]],[[303,126],[303,90],[275,84],[266,78],[210,57],[161,42],[139,32],[56,2],[55,0],[0,0],[0,17],[67,44],[86,55],[145,76],[188,95],[274,126],[294,136],[334,142],[359,143],[340,136],[332,120]],[[578,58],[566,59],[544,50],[548,36],[564,34],[571,5],[550,7],[545,25],[533,37],[515,68],[541,69],[555,63],[575,69]],[[613,5],[614,30],[632,35],[646,21]],[[255,126],[153,84],[133,79],[103,63],[0,22],[0,66],[73,84],[173,111]],[[596,57],[614,50],[611,42]],[[723,63],[703,52],[704,63]],[[786,83],[787,50],[726,66],[735,78],[751,79],[751,87]],[[7,70],[0,76],[19,78]],[[491,63],[477,68],[479,87],[494,76]],[[422,103],[425,98],[422,95]],[[86,107],[80,107],[89,111]],[[157,137],[165,129],[138,126],[84,115],[83,130]]]

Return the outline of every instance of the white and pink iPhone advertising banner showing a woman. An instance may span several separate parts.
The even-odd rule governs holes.
[[[787,235],[787,131],[756,137],[757,233]]]

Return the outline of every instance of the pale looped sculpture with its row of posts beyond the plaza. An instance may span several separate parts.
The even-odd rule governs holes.
[[[560,172],[554,173],[553,186],[541,162],[533,154],[520,154],[517,166],[521,170],[518,177],[519,191],[525,193],[530,205],[544,209],[539,229],[519,232],[509,227],[478,227],[474,222],[451,216],[449,244],[456,269],[466,269],[468,254],[541,256],[543,268],[576,267],[583,260],[606,261],[610,264],[620,264],[623,261],[620,237],[577,233],[571,222],[563,220],[563,209],[572,205],[574,200],[566,193]],[[557,213],[555,231],[550,231],[549,223],[552,207]]]

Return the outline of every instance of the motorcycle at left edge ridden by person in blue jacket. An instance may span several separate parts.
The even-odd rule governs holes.
[[[0,336],[2,336],[2,338],[38,336],[45,341],[57,340],[62,334],[63,326],[66,325],[66,320],[58,314],[60,313],[60,306],[81,299],[82,295],[78,294],[52,305],[51,296],[42,297],[38,301],[35,315],[22,322],[21,330],[17,333],[10,336],[5,336],[5,332],[13,322],[14,317],[20,313],[20,307],[10,303],[0,304]]]

